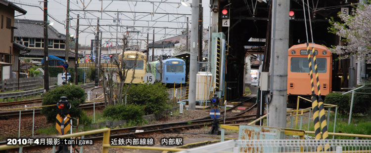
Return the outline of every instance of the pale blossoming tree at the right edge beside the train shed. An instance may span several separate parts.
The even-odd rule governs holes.
[[[344,23],[329,20],[330,33],[336,34],[343,39],[347,45],[336,45],[330,49],[341,58],[348,58],[356,55],[360,60],[371,62],[371,5],[359,5],[351,15],[339,12],[340,19]]]

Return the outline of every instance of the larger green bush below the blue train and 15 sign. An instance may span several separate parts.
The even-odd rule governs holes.
[[[125,89],[126,87],[124,87]],[[127,101],[130,104],[144,106],[146,115],[160,114],[170,108],[170,105],[166,102],[168,95],[166,87],[161,83],[132,85],[128,94]]]

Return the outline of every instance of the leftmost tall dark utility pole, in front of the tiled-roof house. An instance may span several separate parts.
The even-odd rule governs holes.
[[[47,0],[44,1],[44,90],[49,91],[49,61],[47,50]],[[18,69],[19,72],[19,69]],[[19,78],[19,73],[18,73]],[[19,82],[18,82],[19,85]]]

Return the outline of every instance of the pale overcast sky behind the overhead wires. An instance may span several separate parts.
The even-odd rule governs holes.
[[[21,8],[27,11],[26,15],[21,15],[20,13],[16,12],[16,16],[20,15],[16,18],[19,19],[31,19],[31,20],[43,20],[43,13],[44,11],[41,8],[44,8],[44,3],[41,0],[8,0],[11,2],[15,2],[16,5],[20,6]],[[156,0],[159,1],[159,0]],[[95,26],[97,24],[97,17],[100,19],[100,25],[116,25],[114,23],[114,18],[117,17],[116,12],[107,12],[107,11],[136,11],[136,12],[153,12],[153,9],[156,10],[156,13],[170,13],[171,15],[165,14],[155,14],[155,15],[148,15],[147,13],[119,13],[120,24],[122,26],[143,26],[136,29],[126,29],[126,27],[119,28],[119,33],[117,34],[119,38],[122,38],[124,32],[128,31],[140,31],[140,33],[129,33],[129,38],[138,38],[138,39],[146,39],[146,33],[148,29],[146,27],[153,26],[153,27],[169,27],[169,28],[186,28],[185,23],[185,16],[177,15],[178,14],[191,14],[191,7],[186,7],[180,4],[181,0],[168,0],[171,2],[179,2],[179,4],[169,4],[169,3],[152,3],[146,2],[133,2],[133,1],[117,1],[117,0],[70,0],[70,9],[72,10],[82,10],[84,5],[86,10],[100,10],[101,7],[106,11],[104,13],[100,12],[87,12],[84,15],[83,11],[70,11],[70,16],[73,18],[70,22],[70,35],[76,35],[76,18],[77,14],[80,14],[80,25],[87,25],[87,26],[80,26],[79,27],[79,43],[82,45],[90,45],[90,40],[94,39],[93,32],[95,31]],[[187,2],[191,2],[191,0],[185,0]],[[90,3],[89,3],[90,2]],[[89,3],[89,4],[88,4]],[[31,5],[31,6],[30,6]],[[37,7],[35,7],[37,6]],[[67,10],[67,0],[48,0],[48,14],[52,17],[48,17],[50,22],[54,22],[53,27],[61,34],[66,34],[65,29],[65,21],[66,21],[66,10]],[[210,8],[209,8],[209,0],[202,1],[203,9],[203,16],[204,16],[204,23],[203,27],[207,28],[210,21]],[[165,15],[165,16],[164,16]],[[132,20],[136,17],[137,20],[146,20],[146,21],[137,21],[134,23]],[[188,16],[189,23],[191,23],[191,16]],[[84,18],[84,19],[81,19]],[[54,20],[55,19],[55,20]],[[157,19],[157,21],[162,22],[153,22],[151,20]],[[170,20],[171,22],[167,22]],[[149,22],[148,22],[149,21]],[[93,25],[93,27],[89,27],[89,25]],[[189,29],[191,24],[189,24]],[[104,42],[113,42],[115,45],[116,39],[116,27],[115,26],[101,26],[103,31],[102,43]],[[166,29],[165,30],[157,28],[155,33],[155,41],[174,37],[177,34],[180,34],[183,30],[173,30],[173,29]],[[152,29],[149,30],[149,33],[152,33]],[[96,32],[96,31],[95,31]],[[170,35],[173,34],[173,35]],[[152,42],[152,35],[149,35],[149,42]],[[141,46],[145,45],[143,40],[132,40],[129,42],[130,44],[136,45],[141,44]],[[120,44],[120,43],[119,43]]]

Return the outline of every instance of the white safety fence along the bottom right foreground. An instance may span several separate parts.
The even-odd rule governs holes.
[[[371,153],[371,140],[229,140],[177,153]]]

